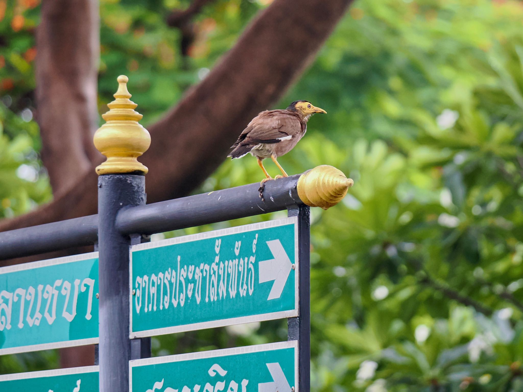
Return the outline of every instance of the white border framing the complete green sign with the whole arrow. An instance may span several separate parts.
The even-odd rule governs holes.
[[[244,233],[244,232],[252,232],[253,230],[259,230],[259,229],[264,229],[264,228],[268,228],[268,227],[284,226],[284,225],[289,225],[289,224],[294,224],[294,260],[295,260],[294,309],[281,310],[280,312],[265,313],[265,314],[261,314],[261,315],[242,316],[242,317],[225,318],[225,319],[219,319],[219,320],[195,322],[193,324],[178,325],[178,326],[173,326],[173,327],[146,329],[143,331],[133,331],[132,330],[133,297],[134,297],[132,295],[132,292],[133,292],[132,252],[133,251],[158,248],[158,247],[174,245],[174,244],[183,244],[183,243],[200,240],[200,239],[215,238],[215,237],[221,237],[224,235]],[[300,253],[299,253],[299,243],[298,243],[298,216],[289,216],[286,218],[281,218],[281,219],[276,219],[276,220],[271,220],[271,221],[266,221],[266,222],[251,223],[248,225],[228,227],[228,228],[223,228],[223,229],[219,229],[219,230],[213,230],[210,232],[168,238],[168,239],[164,239],[161,241],[154,241],[151,243],[132,245],[129,249],[129,287],[130,287],[130,290],[129,290],[129,294],[130,294],[129,338],[130,339],[145,338],[145,337],[157,336],[157,335],[167,335],[168,333],[196,331],[199,329],[225,327],[225,326],[237,325],[237,324],[246,324],[248,322],[267,321],[267,320],[276,320],[276,319],[280,319],[280,318],[298,317],[299,316],[299,292],[300,292],[300,279],[299,279],[300,277],[299,277],[299,268],[298,268],[299,263],[300,263],[299,254]]]

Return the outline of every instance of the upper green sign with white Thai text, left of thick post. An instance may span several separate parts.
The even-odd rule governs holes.
[[[97,343],[96,293],[97,252],[0,268],[0,355]]]

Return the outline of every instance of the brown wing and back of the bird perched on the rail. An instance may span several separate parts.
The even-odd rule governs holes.
[[[297,113],[289,110],[267,110],[249,122],[232,147],[240,144],[279,143],[301,130],[302,124]]]

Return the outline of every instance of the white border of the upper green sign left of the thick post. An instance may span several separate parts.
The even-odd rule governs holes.
[[[0,275],[6,274],[6,273],[11,273],[11,272],[26,271],[26,270],[31,270],[31,269],[35,269],[35,268],[57,266],[59,264],[71,263],[71,262],[75,262],[75,261],[82,261],[82,260],[88,260],[88,259],[98,259],[98,258],[99,258],[98,252],[89,252],[89,253],[80,253],[79,255],[56,257],[54,259],[32,261],[30,263],[22,263],[22,264],[15,264],[14,266],[1,267]],[[98,303],[97,303],[97,306],[98,306]],[[74,347],[74,346],[86,345],[86,344],[97,344],[98,340],[99,339],[97,337],[97,338],[86,338],[86,339],[75,339],[75,340],[62,340],[59,342],[22,345],[22,346],[17,346],[17,347],[8,347],[8,348],[0,347],[0,355],[18,354],[18,353],[30,352],[30,351],[61,349],[61,348],[65,348],[65,347]],[[30,372],[30,373],[35,373],[35,372]],[[0,380],[1,380],[1,378],[0,378]]]

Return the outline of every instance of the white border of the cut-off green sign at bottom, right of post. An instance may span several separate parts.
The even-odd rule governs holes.
[[[244,347],[233,347],[231,349],[209,350],[200,352],[191,352],[187,354],[156,356],[154,358],[144,358],[129,361],[129,392],[132,392],[132,368],[146,365],[156,365],[160,363],[173,363],[181,361],[190,361],[202,358],[219,358],[220,356],[247,354],[260,351],[272,351],[280,349],[294,349],[294,392],[299,392],[300,387],[298,380],[300,377],[300,366],[298,362],[298,340],[289,340],[286,342],[267,343],[247,345]]]

